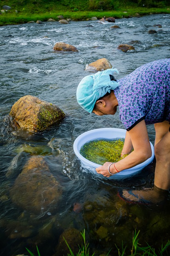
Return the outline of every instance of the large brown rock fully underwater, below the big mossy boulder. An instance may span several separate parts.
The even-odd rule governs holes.
[[[12,202],[34,214],[55,211],[61,195],[62,188],[42,156],[29,158],[10,190]]]

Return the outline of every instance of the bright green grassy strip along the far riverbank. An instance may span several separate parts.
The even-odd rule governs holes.
[[[71,19],[74,21],[88,20],[92,17],[101,19],[102,17],[114,17],[118,18],[130,18],[130,17],[140,17],[149,14],[170,14],[170,7],[166,8],[133,8],[125,7],[119,10],[113,11],[65,11],[56,10],[44,13],[29,13],[23,11],[18,12],[17,10],[6,10],[0,15],[0,26],[12,25],[12,24],[23,24],[30,21],[36,22],[41,20],[45,22],[50,18],[59,21],[58,16],[62,15],[64,19]]]

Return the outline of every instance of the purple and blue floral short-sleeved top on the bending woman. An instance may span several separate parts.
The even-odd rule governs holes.
[[[170,122],[170,59],[145,64],[117,82],[114,93],[125,129],[142,119],[146,124]]]

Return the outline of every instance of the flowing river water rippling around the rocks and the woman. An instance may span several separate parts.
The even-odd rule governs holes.
[[[119,70],[116,78],[121,78],[145,63],[170,58],[170,14],[122,18],[115,24],[120,29],[111,29],[113,24],[98,21],[0,27],[1,256],[28,255],[25,247],[36,254],[36,245],[41,256],[54,255],[59,237],[68,228],[79,232],[85,229],[95,255],[106,255],[109,250],[110,255],[118,255],[115,244],[121,248],[122,240],[131,254],[135,230],[140,230],[142,245],[148,242],[155,248],[170,238],[169,200],[161,207],[129,204],[117,194],[122,189],[152,187],[154,161],[135,177],[114,181],[88,172],[73,151],[74,140],[83,132],[124,128],[118,111],[115,116],[99,117],[84,112],[77,104],[77,85],[90,74],[85,70],[86,64],[107,58]],[[154,26],[157,24],[162,28]],[[149,29],[157,34],[149,34]],[[55,52],[56,42],[72,44],[78,52]],[[119,44],[131,44],[135,50],[121,52],[117,50]],[[25,95],[56,104],[66,118],[41,134],[15,130],[9,113],[13,104]],[[154,144],[152,125],[148,126],[148,132]],[[23,165],[33,155],[43,156],[63,188],[54,211],[33,214],[18,206],[10,196]],[[58,249],[55,255],[63,255],[63,251]]]

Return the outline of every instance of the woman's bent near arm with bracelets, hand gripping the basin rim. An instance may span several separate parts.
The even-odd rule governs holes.
[[[145,120],[139,122],[127,133],[131,139],[134,151],[119,162],[115,163],[115,167],[119,172],[144,162],[152,155]],[[111,174],[108,172],[109,164],[110,162],[106,162],[103,166],[96,168],[96,171],[106,177],[111,176]],[[117,173],[115,167],[114,164],[112,164],[109,168],[112,174]]]

